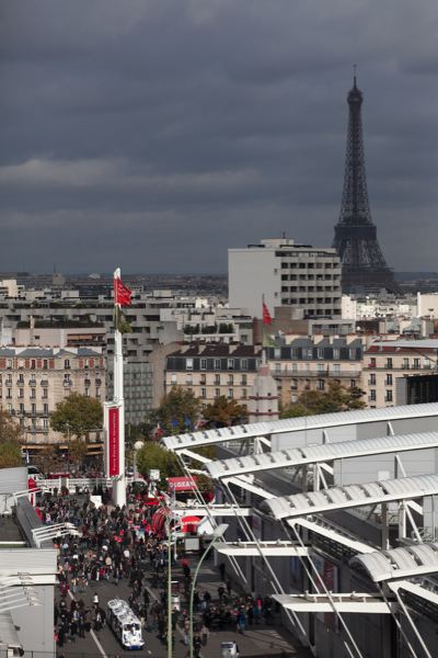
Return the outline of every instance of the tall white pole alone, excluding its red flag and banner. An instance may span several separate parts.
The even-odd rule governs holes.
[[[114,272],[114,281],[120,280],[120,268]],[[113,500],[120,508],[126,504],[126,478],[125,478],[125,397],[124,397],[124,372],[123,372],[123,342],[118,325],[120,319],[120,306],[117,295],[117,285],[114,285],[114,396],[113,401],[118,407],[118,458],[120,470],[118,477],[113,481]]]

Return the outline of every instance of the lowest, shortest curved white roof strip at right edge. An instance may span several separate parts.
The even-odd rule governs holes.
[[[349,560],[349,564],[367,571],[373,582],[394,578],[415,578],[438,571],[438,543],[416,544],[357,555]]]

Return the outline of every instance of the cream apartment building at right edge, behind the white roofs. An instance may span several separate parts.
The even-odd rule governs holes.
[[[373,342],[364,354],[362,387],[371,408],[394,407],[403,389],[402,379],[431,375],[438,367],[438,340]]]

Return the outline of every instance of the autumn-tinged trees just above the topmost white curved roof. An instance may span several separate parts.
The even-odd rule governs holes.
[[[298,402],[288,405],[281,410],[280,418],[364,409],[366,404],[361,399],[364,390],[356,386],[346,388],[338,382],[328,382],[327,390],[304,390]]]

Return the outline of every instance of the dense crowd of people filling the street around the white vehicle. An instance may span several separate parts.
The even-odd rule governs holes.
[[[81,496],[44,494],[39,501],[39,515],[44,523],[73,523],[80,536],[59,540],[58,580],[60,597],[55,606],[55,633],[57,644],[84,637],[91,628],[99,632],[106,623],[95,583],[105,581],[129,586],[128,603],[145,631],[155,633],[168,643],[166,565],[168,541],[164,529],[153,523],[157,507],[147,504],[139,496],[130,496],[123,509],[110,504],[107,490],[100,491],[102,506],[95,507],[90,495]],[[188,602],[192,589],[192,569],[184,557],[175,560],[172,578],[175,599],[172,598],[172,642],[180,625],[184,644],[189,644]],[[269,621],[270,600],[261,597],[237,595],[232,583],[226,578],[224,565],[220,565],[223,580],[217,595],[206,589],[194,592],[195,656],[208,644],[211,629],[230,629],[244,633],[247,625]],[[92,597],[84,595],[93,588]],[[71,592],[71,595],[69,595]],[[116,593],[116,592],[115,592]],[[91,592],[90,592],[91,594]],[[92,600],[87,605],[84,600]]]

